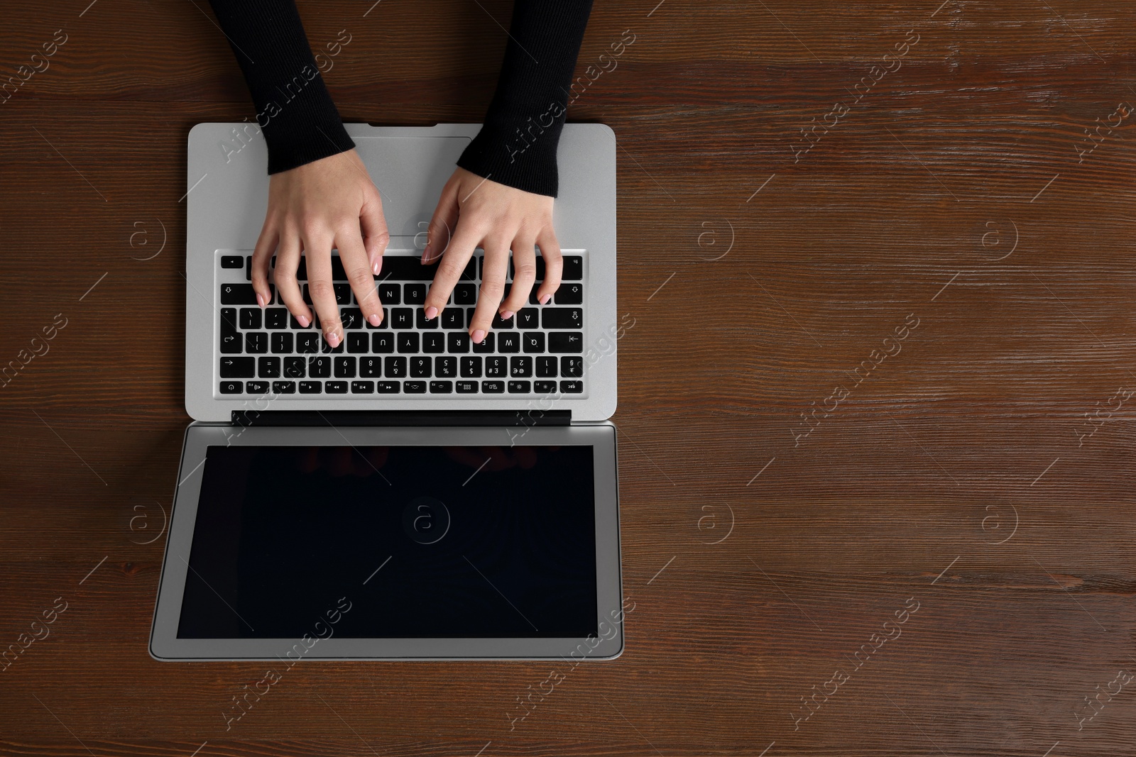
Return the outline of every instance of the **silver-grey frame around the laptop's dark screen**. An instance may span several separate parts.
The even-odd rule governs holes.
[[[202,470],[210,446],[551,446],[593,448],[596,613],[599,633],[584,638],[181,639],[177,626],[189,573]],[[624,648],[616,429],[610,423],[561,427],[249,427],[193,423],[185,431],[161,579],[150,633],[159,661],[281,659],[610,659]]]

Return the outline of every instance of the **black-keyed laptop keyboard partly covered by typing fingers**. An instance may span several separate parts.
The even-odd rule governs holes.
[[[536,284],[528,304],[473,343],[469,319],[477,305],[483,255],[478,250],[445,309],[427,321],[423,303],[437,263],[387,252],[375,277],[383,322],[364,318],[337,254],[332,278],[344,339],[331,347],[318,320],[303,328],[279,302],[275,287],[267,308],[252,291],[251,253],[217,255],[219,292],[218,393],[311,398],[376,398],[377,395],[582,395],[584,393],[584,258],[565,254],[560,288],[549,304],[536,301],[544,260],[536,259]],[[307,261],[296,278],[304,301]],[[273,260],[275,266],[275,259]],[[506,294],[512,281],[512,262]],[[311,308],[312,313],[315,309]]]

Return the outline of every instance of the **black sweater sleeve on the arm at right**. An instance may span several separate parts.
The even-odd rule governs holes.
[[[500,184],[557,196],[557,143],[592,0],[516,0],[485,125],[458,165]]]

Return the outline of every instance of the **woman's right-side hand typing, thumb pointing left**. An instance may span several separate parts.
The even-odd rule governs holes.
[[[560,286],[563,259],[552,230],[552,197],[546,195],[515,190],[459,168],[442,190],[427,238],[423,262],[432,263],[442,258],[424,304],[427,319],[435,318],[445,308],[474,249],[485,251],[482,289],[469,323],[474,342],[483,340],[488,334],[494,313],[500,312],[501,318],[508,320],[525,306],[536,280],[534,245],[541,246],[544,258],[544,283],[537,291],[541,304],[546,303]],[[510,250],[512,287],[501,302]]]

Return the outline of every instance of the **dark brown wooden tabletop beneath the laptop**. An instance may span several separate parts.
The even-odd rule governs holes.
[[[1136,117],[1075,149],[1136,101],[1131,3],[598,0],[578,73],[636,35],[569,110],[620,144],[625,654],[304,664],[226,732],[265,665],[151,659],[141,542],[189,421],[186,134],[253,111],[203,0],[87,2],[0,27],[5,76],[68,35],[0,104],[0,360],[67,318],[0,388],[0,646],[68,603],[0,672],[0,752],[1136,754],[1136,683],[1076,715],[1136,672]],[[479,120],[509,3],[369,6],[301,5],[314,47],[352,35],[344,119]]]

